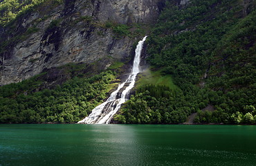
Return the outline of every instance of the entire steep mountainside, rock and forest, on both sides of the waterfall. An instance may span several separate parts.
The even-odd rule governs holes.
[[[31,78],[0,87],[0,122],[84,118],[146,29],[151,70],[118,122],[255,123],[255,14],[253,0],[45,0],[2,24],[1,84]]]

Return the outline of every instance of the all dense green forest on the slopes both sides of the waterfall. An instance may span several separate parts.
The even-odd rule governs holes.
[[[0,24],[8,26],[48,2],[0,1]],[[145,46],[149,73],[157,79],[145,82],[148,75],[142,73],[115,120],[179,124],[196,113],[194,123],[255,124],[255,17],[253,1],[194,0],[185,6],[166,1]],[[127,25],[109,21],[104,26],[118,38],[131,35]],[[68,64],[60,68],[71,77],[50,89],[42,88],[47,72],[1,86],[0,122],[77,122],[107,98],[120,66],[86,75],[84,64]]]

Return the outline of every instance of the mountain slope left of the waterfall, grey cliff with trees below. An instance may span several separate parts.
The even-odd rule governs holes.
[[[1,1],[0,84],[8,85],[0,87],[0,122],[84,118],[119,82],[116,73],[127,72],[119,67],[133,57],[141,26],[162,7],[158,0]]]

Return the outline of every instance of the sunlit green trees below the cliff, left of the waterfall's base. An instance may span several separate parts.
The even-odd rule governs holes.
[[[64,66],[65,73],[81,71],[82,66]],[[109,70],[91,77],[78,73],[53,89],[40,89],[46,74],[0,87],[0,123],[74,123],[103,102],[116,85],[111,83],[115,72]]]

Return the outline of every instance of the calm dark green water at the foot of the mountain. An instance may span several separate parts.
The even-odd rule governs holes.
[[[6,165],[256,165],[256,126],[0,124]]]

